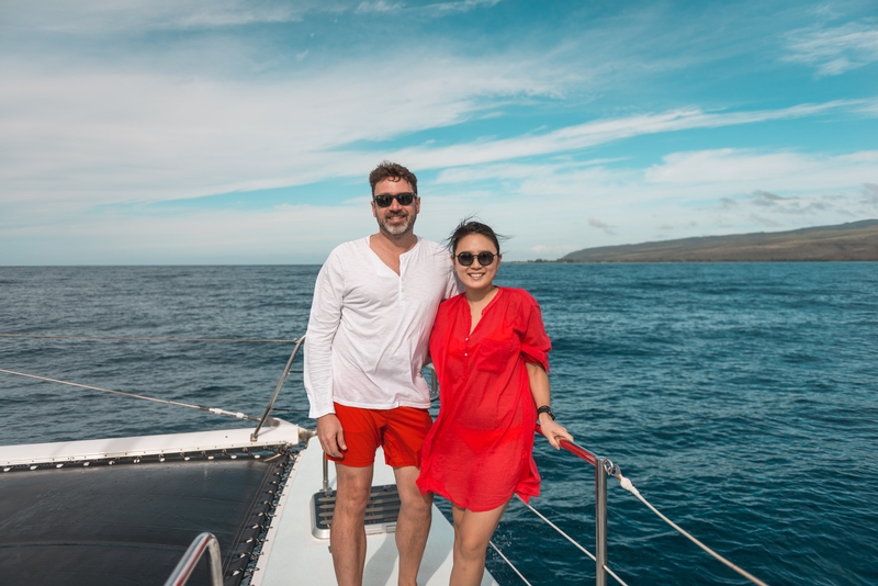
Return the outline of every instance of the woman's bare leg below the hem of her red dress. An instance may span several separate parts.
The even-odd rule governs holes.
[[[473,511],[451,505],[454,517],[454,566],[450,586],[479,586],[485,573],[485,551],[500,522],[506,502],[496,509]]]

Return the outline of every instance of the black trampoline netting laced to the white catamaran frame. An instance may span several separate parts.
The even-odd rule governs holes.
[[[0,583],[160,586],[210,531],[225,586],[239,585],[291,459],[151,460],[0,473]],[[189,584],[207,583],[202,560]]]

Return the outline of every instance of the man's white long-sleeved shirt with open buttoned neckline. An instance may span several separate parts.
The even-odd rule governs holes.
[[[448,249],[418,238],[399,257],[399,274],[370,248],[369,237],[329,253],[314,285],[305,337],[305,390],[316,419],[350,407],[427,408],[420,369],[436,311],[460,285]]]

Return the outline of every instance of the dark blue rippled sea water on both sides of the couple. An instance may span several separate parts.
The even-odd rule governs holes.
[[[0,333],[294,338],[317,267],[0,268]],[[559,420],[769,584],[878,584],[878,264],[505,266],[543,307]],[[0,338],[0,368],[259,415],[290,346]],[[305,421],[301,375],[279,415]],[[240,425],[0,373],[0,442]],[[537,508],[594,551],[593,469],[538,440]],[[609,481],[629,585],[743,584]],[[594,563],[514,502],[534,585]],[[502,562],[489,568],[519,584]],[[612,578],[610,578],[612,583]]]

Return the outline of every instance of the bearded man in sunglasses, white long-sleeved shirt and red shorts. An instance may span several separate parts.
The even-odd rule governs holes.
[[[413,232],[420,212],[415,174],[384,161],[369,183],[379,232],[342,244],[320,269],[305,338],[305,388],[320,446],[336,463],[329,539],[338,584],[362,584],[363,517],[381,446],[402,502],[399,585],[415,586],[432,505],[432,495],[415,485],[432,424],[420,369],[437,307],[459,285],[448,251]]]

